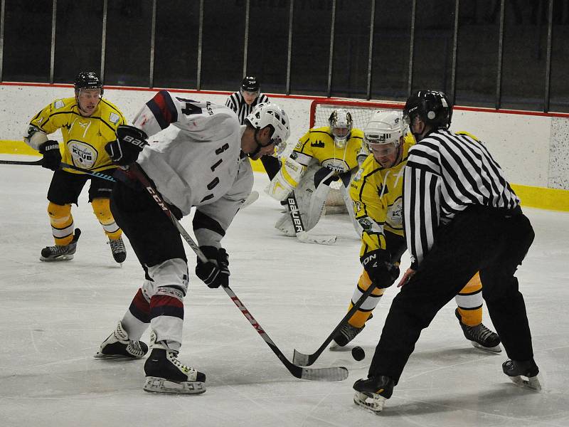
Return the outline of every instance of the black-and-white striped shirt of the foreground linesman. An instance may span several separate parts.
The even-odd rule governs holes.
[[[486,147],[471,135],[436,130],[409,152],[403,181],[403,224],[413,268],[437,228],[469,205],[514,209],[519,199]]]

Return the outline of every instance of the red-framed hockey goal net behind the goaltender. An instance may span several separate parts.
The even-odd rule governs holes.
[[[314,100],[310,105],[310,127],[322,127],[329,125],[329,117],[334,110],[344,108],[351,114],[353,128],[363,130],[373,114],[377,110],[402,110],[403,103],[397,102],[374,102],[356,100]],[[331,190],[326,199],[326,212],[329,214],[345,212],[344,200],[340,190]]]

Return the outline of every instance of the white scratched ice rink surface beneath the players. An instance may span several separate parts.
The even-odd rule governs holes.
[[[373,320],[354,340],[366,358],[326,350],[313,367],[344,366],[339,382],[294,378],[223,290],[193,275],[186,297],[181,362],[207,375],[199,396],[142,390],[144,360],[93,359],[115,328],[142,268],[130,247],[122,267],[112,260],[102,228],[87,204],[73,206],[83,231],[75,259],[39,261],[53,245],[41,167],[0,165],[0,425],[43,426],[569,426],[569,214],[525,209],[536,231],[518,271],[533,334],[541,393],[502,374],[504,352],[467,342],[454,301],[424,330],[393,397],[381,415],[352,402],[351,386],[365,377],[397,288],[385,292]],[[347,216],[329,215],[311,233],[337,234],[335,246],[287,238],[273,228],[281,206],[262,189],[235,217],[224,244],[231,287],[282,352],[314,352],[346,312],[361,270],[359,241]],[[191,231],[190,218],[183,225]],[[407,255],[403,267],[408,266]],[[433,284],[435,285],[435,284]],[[491,326],[484,312],[484,323]],[[148,342],[148,333],[144,340]]]

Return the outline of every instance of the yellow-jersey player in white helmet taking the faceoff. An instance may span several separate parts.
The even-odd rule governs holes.
[[[400,112],[378,111],[364,129],[364,143],[371,154],[350,184],[353,210],[363,228],[360,251],[363,272],[349,309],[373,281],[378,287],[336,334],[331,349],[344,347],[363,330],[385,288],[398,278],[400,258],[407,248],[403,234],[403,169],[415,139],[406,132]],[[501,352],[498,335],[482,324],[482,284],[478,273],[455,300],[458,306],[455,314],[464,336],[474,347]]]

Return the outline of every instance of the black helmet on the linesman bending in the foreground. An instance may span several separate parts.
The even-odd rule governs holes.
[[[416,116],[435,129],[448,129],[452,119],[452,105],[445,93],[438,90],[418,90],[408,97],[403,108],[403,119],[408,125]]]

